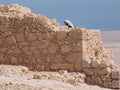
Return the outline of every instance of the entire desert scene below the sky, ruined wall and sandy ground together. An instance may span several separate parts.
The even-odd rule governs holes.
[[[0,6],[0,35],[0,90],[119,88],[120,31],[60,28],[13,4]]]

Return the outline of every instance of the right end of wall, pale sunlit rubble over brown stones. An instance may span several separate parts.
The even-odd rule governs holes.
[[[110,50],[104,48],[99,31],[83,32],[83,71],[86,82],[107,88],[120,88],[120,71]]]

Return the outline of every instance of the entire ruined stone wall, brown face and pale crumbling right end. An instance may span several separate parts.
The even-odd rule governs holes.
[[[17,4],[0,6],[0,64],[83,72],[87,83],[120,88],[120,72],[99,30],[61,27]]]

